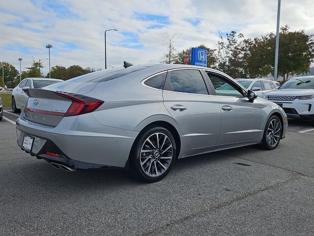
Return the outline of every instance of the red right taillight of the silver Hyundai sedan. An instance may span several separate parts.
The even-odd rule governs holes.
[[[102,100],[87,97],[84,95],[59,91],[56,91],[54,93],[58,96],[72,100],[72,104],[70,105],[69,109],[64,115],[65,117],[72,117],[90,113],[95,111],[97,108],[104,104],[104,101]]]

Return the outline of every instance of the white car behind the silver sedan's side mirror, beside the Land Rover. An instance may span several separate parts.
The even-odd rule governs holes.
[[[266,92],[269,92],[280,86],[279,82],[266,78],[255,79],[235,79],[245,89],[253,90],[259,97],[264,97]]]

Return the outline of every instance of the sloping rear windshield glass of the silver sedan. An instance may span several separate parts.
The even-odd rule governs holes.
[[[122,76],[129,75],[131,73],[134,73],[136,71],[140,71],[145,69],[145,66],[130,66],[128,68],[119,67],[119,68],[113,68],[113,69],[107,69],[107,70],[101,70],[85,75],[78,76],[76,78],[73,78],[71,80],[68,80],[70,82],[82,82],[82,83],[99,83],[99,82],[105,82],[109,80],[114,80]]]

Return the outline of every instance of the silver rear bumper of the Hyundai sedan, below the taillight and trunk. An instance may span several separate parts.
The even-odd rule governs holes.
[[[23,112],[16,121],[18,145],[22,148],[25,134],[33,136],[31,155],[73,169],[125,167],[138,134],[101,125],[91,114],[63,118],[50,127],[26,120]],[[47,151],[59,157],[47,155]]]

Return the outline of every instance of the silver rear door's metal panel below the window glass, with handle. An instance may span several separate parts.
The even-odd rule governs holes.
[[[204,148],[216,144],[221,112],[212,95],[184,94],[163,91],[164,105],[180,127],[190,148]],[[184,110],[173,110],[174,106]]]

